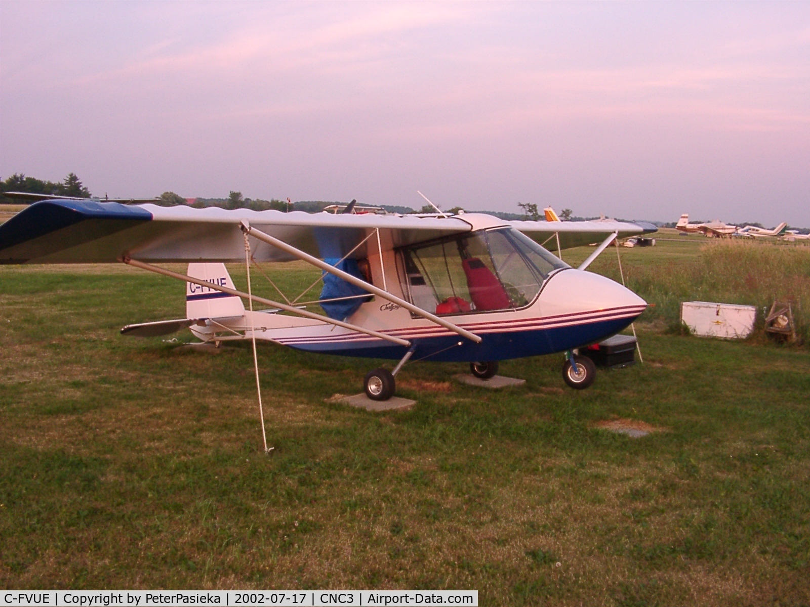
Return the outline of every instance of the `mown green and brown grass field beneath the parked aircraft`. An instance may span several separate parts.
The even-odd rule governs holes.
[[[630,285],[657,304],[637,325],[646,363],[583,393],[565,387],[560,355],[503,363],[527,384],[502,393],[455,384],[463,365],[415,363],[398,393],[417,405],[372,414],[328,399],[359,392],[374,361],[260,347],[269,457],[249,347],[212,355],[117,334],[183,316],[181,283],[0,267],[0,586],[808,605],[810,354],[667,334],[670,300],[713,295],[708,281],[684,291],[679,272],[698,276],[717,254],[672,238],[622,250]],[[757,251],[774,254],[744,253]],[[799,285],[802,263],[790,266]],[[614,273],[615,252],[592,268]],[[269,270],[289,292],[317,277]],[[595,427],[612,419],[661,431]]]

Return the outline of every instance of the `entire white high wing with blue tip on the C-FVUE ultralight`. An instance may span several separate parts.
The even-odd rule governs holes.
[[[321,259],[368,257],[379,230],[382,248],[424,242],[477,229],[476,214],[447,219],[397,214],[330,214],[278,210],[225,210],[217,207],[122,205],[57,199],[36,202],[0,225],[0,264],[113,263],[124,257],[141,261],[244,261],[245,241],[240,223]],[[477,214],[482,218],[481,214]],[[492,225],[513,226],[539,243],[554,238],[548,248],[591,244],[613,231],[633,236],[654,227],[622,222],[506,222],[483,215]],[[650,229],[652,228],[652,229]],[[365,240],[365,242],[364,242]],[[256,261],[290,261],[288,253],[262,241],[250,240]]]

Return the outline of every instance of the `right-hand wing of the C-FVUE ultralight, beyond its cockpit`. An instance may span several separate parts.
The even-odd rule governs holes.
[[[619,238],[658,231],[652,223],[644,222],[510,221],[508,223],[552,252],[556,250],[557,236],[560,238],[560,248],[573,248],[602,242],[615,231],[619,232]]]

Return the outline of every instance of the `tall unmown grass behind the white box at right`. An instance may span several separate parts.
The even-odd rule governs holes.
[[[759,308],[757,333],[774,300],[791,302],[796,332],[810,343],[810,247],[715,240],[693,261],[626,267],[627,286],[655,308],[650,320],[680,326],[680,302],[716,301]],[[767,309],[765,309],[767,308]]]

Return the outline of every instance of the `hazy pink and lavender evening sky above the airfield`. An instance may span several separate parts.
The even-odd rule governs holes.
[[[0,2],[0,176],[810,226],[810,3]]]

